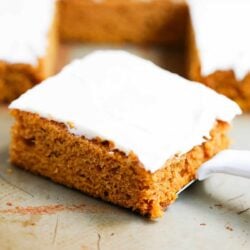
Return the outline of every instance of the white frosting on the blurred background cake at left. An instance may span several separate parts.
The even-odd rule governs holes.
[[[0,60],[36,66],[45,56],[54,0],[0,0]]]

